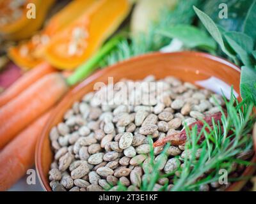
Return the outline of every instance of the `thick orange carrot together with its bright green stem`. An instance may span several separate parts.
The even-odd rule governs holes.
[[[33,120],[49,110],[68,91],[69,87],[81,82],[99,64],[120,38],[109,40],[97,54],[82,64],[67,80],[60,73],[51,73],[40,78],[12,101],[0,108],[0,149]]]

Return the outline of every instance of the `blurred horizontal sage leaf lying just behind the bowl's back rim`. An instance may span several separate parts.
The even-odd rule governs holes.
[[[157,31],[168,38],[177,38],[188,48],[202,48],[204,50],[216,50],[216,43],[205,31],[193,25],[173,25],[172,27]]]

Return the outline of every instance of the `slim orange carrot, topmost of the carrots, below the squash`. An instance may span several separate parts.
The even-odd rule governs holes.
[[[31,84],[36,82],[39,78],[42,78],[44,75],[52,73],[56,71],[50,64],[44,62],[42,64],[38,64],[34,69],[28,71],[28,73],[24,74],[19,78],[11,87],[6,89],[2,94],[0,94],[0,107],[8,103],[15,96],[19,95],[20,92],[27,89]]]

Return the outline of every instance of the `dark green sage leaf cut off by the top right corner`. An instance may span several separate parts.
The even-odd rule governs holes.
[[[253,1],[244,20],[243,33],[256,39],[256,0]]]

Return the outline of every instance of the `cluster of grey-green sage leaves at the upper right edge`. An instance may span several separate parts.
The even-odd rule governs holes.
[[[225,31],[203,11],[195,6],[194,10],[221,50],[241,66],[241,96],[256,104],[256,1],[250,6],[241,32]]]

